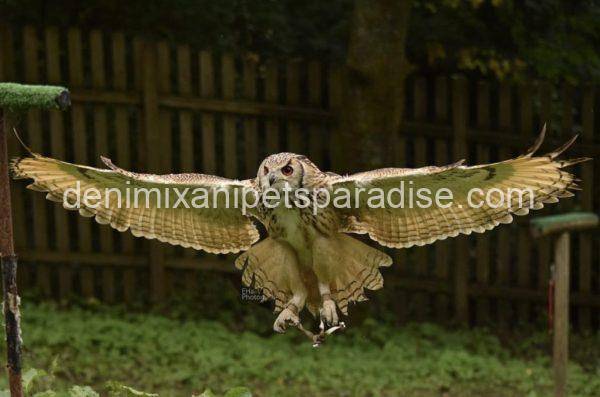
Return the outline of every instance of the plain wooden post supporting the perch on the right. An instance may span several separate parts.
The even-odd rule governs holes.
[[[569,232],[560,234],[554,245],[554,395],[567,395],[567,363],[569,360]]]

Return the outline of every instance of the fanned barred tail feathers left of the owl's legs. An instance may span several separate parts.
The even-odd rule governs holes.
[[[280,312],[292,296],[285,264],[295,261],[286,247],[266,238],[241,254],[235,267],[242,270],[242,283],[261,290],[264,298],[275,301],[275,312]]]

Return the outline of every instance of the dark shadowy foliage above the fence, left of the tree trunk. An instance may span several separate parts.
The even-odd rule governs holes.
[[[118,29],[266,56],[341,56],[351,8],[352,0],[0,0],[15,24]]]

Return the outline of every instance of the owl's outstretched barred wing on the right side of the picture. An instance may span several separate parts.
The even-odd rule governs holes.
[[[405,202],[402,208],[390,208],[387,205],[386,208],[370,208],[367,202],[369,196],[362,194],[356,201],[358,205],[353,205],[350,209],[339,209],[345,220],[343,231],[367,233],[373,240],[388,247],[421,246],[455,237],[459,233],[483,233],[500,223],[512,222],[513,214],[524,215],[529,212],[530,207],[540,209],[545,203],[555,203],[559,198],[570,197],[573,195],[570,190],[577,189],[576,179],[562,168],[589,159],[557,160],[575,137],[554,152],[534,157],[543,137],[542,131],[527,154],[493,164],[467,167],[458,162],[444,167],[385,168],[333,177],[330,181],[331,188],[349,189],[353,203],[356,195],[360,194],[357,188],[367,191],[380,188],[387,197],[391,189],[401,185],[404,187]],[[413,193],[420,188],[429,189],[433,205],[420,208],[413,203],[412,207],[409,206],[409,188],[413,189]],[[453,195],[448,208],[437,206],[434,199],[436,193],[443,188],[450,189]],[[533,195],[523,194],[522,206],[519,206],[519,195],[507,194],[511,188],[525,192],[531,189]],[[480,208],[469,205],[467,195],[471,189],[474,189],[471,203],[478,206],[483,201]],[[490,200],[486,201],[488,192]],[[500,192],[504,193],[503,204],[500,203]],[[446,196],[447,192],[442,193],[440,197]],[[413,196],[416,197],[415,194]],[[398,205],[398,196],[393,197],[395,205]],[[444,201],[442,204],[445,206],[448,202]]]

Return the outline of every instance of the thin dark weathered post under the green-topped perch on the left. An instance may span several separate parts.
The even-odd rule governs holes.
[[[11,397],[22,397],[21,327],[17,291],[17,257],[13,244],[10,185],[8,178],[8,148],[4,129],[4,114],[0,110],[0,260],[4,291],[4,324],[6,328],[6,358]]]

